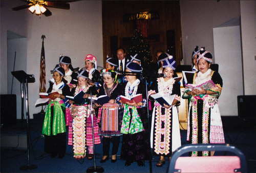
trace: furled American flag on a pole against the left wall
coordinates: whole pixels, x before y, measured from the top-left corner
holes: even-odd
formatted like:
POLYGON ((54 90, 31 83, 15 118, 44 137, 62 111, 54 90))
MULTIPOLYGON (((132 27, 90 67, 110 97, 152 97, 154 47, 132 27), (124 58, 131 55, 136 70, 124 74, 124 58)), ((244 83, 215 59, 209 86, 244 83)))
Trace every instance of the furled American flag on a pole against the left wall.
POLYGON ((42 35, 42 49, 41 49, 41 60, 40 60, 40 93, 46 92, 46 61, 45 61, 45 48, 44 48, 44 38, 46 36, 42 35))

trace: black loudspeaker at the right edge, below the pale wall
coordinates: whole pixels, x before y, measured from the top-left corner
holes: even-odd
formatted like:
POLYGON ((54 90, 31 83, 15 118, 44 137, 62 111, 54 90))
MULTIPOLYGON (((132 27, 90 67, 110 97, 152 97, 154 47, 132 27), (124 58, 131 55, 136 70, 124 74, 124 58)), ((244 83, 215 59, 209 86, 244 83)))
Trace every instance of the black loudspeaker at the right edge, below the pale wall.
POLYGON ((256 119, 256 95, 238 96, 238 117, 256 119))

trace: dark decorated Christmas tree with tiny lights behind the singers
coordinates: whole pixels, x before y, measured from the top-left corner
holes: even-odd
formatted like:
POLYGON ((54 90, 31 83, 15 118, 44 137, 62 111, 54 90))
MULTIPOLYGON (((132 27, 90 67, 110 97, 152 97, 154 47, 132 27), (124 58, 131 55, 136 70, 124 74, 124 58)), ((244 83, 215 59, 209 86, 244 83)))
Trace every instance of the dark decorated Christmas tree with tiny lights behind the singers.
POLYGON ((152 56, 149 45, 144 41, 141 33, 136 29, 134 30, 133 37, 130 41, 130 45, 127 49, 127 54, 130 56, 133 53, 140 54, 141 67, 146 71, 149 71, 150 65, 152 63, 152 56))

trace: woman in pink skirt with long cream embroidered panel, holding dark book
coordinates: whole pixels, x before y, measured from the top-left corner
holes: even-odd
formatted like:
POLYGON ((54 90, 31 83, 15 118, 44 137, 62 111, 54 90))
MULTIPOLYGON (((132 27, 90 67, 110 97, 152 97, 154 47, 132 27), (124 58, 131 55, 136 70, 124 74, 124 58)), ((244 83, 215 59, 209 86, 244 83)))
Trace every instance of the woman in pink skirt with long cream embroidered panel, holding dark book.
MULTIPOLYGON (((93 159, 93 134, 92 134, 92 118, 91 118, 91 105, 89 105, 91 92, 92 95, 97 95, 95 86, 91 86, 87 83, 88 72, 80 70, 78 72, 78 87, 75 89, 74 95, 83 91, 84 102, 76 104, 73 101, 71 106, 71 116, 73 117, 73 152, 76 159, 82 159, 86 157, 86 145, 88 146, 89 155, 88 160, 93 159)), ((98 135, 98 123, 93 109, 93 125, 94 125, 94 142, 100 143, 98 135)))

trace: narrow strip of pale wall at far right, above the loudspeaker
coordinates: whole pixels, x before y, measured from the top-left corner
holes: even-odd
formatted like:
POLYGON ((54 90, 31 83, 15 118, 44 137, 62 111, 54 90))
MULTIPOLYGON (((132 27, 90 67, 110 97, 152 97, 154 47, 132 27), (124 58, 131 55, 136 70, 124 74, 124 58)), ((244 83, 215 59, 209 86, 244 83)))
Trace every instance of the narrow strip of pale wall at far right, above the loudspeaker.
POLYGON ((256 1, 241 1, 245 95, 256 95, 256 1))

